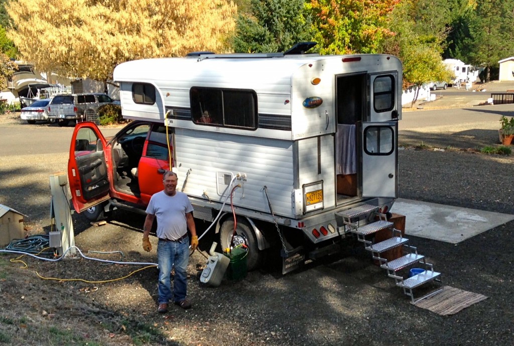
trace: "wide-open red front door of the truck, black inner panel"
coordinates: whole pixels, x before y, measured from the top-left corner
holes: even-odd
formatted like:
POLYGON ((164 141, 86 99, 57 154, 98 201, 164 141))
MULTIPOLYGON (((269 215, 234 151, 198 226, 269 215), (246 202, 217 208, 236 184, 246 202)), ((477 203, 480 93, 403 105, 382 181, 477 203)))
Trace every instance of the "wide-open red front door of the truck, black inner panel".
POLYGON ((107 141, 93 122, 80 122, 71 136, 68 179, 75 210, 82 212, 109 199, 107 141))

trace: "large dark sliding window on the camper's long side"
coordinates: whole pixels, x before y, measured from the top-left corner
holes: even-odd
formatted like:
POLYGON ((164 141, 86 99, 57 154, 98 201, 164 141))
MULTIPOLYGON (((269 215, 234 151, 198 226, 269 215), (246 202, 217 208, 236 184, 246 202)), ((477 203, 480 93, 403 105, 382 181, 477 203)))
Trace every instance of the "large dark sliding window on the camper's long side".
POLYGON ((256 99, 253 90, 193 87, 190 92, 193 122, 255 130, 256 99))

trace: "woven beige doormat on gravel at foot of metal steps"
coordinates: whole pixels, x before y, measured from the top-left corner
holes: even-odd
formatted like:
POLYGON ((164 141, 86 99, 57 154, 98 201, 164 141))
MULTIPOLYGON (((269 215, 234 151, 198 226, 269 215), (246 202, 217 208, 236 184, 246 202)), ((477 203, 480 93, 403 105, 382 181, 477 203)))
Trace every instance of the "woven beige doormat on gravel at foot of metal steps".
POLYGON ((468 306, 476 304, 486 296, 479 293, 467 292, 455 287, 444 286, 443 290, 433 297, 411 303, 441 316, 453 315, 468 306))

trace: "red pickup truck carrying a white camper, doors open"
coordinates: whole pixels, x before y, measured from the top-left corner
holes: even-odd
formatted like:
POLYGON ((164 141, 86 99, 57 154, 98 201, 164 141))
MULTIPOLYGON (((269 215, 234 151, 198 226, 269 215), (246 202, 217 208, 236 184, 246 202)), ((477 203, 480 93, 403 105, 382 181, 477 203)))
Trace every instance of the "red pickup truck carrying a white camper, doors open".
POLYGON ((134 121, 110 140, 77 124, 75 209, 91 220, 144 210, 171 169, 222 248, 248 249, 249 269, 269 248, 284 273, 336 251, 397 197, 401 62, 300 50, 118 65, 122 114, 134 121))

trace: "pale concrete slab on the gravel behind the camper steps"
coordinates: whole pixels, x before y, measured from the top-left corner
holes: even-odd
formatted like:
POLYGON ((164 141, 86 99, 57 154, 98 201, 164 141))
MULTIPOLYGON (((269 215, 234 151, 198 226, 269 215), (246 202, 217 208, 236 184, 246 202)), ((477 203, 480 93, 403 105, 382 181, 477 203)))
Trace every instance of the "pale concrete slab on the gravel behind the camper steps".
POLYGON ((514 220, 514 215, 396 199, 391 212, 405 215, 405 234, 457 244, 514 220))

